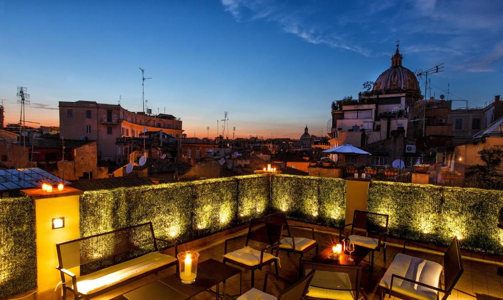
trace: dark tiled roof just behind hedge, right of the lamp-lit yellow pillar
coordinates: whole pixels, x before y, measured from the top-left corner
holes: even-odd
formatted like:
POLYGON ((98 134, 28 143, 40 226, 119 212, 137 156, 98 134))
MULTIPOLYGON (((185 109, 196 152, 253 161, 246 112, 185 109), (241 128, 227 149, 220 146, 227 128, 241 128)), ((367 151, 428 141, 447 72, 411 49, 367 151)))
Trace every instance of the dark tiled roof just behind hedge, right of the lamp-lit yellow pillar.
POLYGON ((121 187, 152 185, 148 178, 127 176, 104 179, 81 179, 72 181, 71 187, 81 191, 109 190, 121 187))

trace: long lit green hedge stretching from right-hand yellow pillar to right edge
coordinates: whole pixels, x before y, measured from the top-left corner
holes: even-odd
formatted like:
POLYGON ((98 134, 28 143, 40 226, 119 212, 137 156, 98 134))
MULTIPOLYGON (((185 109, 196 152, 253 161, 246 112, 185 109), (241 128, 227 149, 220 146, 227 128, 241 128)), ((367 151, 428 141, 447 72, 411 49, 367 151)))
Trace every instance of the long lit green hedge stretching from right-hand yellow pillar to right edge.
POLYGON ((372 182, 369 211, 389 214, 390 235, 448 245, 454 236, 464 249, 503 254, 503 230, 496 227, 503 191, 372 182))

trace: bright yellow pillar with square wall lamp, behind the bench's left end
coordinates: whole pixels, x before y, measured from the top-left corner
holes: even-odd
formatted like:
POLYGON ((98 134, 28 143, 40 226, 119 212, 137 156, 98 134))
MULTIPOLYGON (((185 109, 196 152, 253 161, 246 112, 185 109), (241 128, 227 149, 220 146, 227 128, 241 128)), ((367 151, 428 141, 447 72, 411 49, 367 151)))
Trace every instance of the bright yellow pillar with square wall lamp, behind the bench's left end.
POLYGON ((59 271, 56 270, 56 243, 79 237, 78 195, 37 199, 35 213, 38 299, 53 300, 60 295, 60 290, 54 292, 54 288, 61 281, 59 271), (64 217, 64 228, 52 229, 52 219, 59 217, 64 217))

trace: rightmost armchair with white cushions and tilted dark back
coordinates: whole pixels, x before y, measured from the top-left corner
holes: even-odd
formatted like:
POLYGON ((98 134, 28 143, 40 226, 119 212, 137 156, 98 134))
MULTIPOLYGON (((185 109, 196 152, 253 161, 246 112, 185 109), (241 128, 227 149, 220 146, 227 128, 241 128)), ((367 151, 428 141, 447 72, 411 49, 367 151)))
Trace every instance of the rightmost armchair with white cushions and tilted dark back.
MULTIPOLYGON (((403 247, 405 251, 405 244, 403 247)), ((387 293, 402 299, 447 299, 463 274, 463 263, 459 241, 455 237, 444 253, 444 267, 437 262, 396 254, 379 282, 380 298, 387 293), (440 276, 444 272, 444 288, 440 287, 440 276)))

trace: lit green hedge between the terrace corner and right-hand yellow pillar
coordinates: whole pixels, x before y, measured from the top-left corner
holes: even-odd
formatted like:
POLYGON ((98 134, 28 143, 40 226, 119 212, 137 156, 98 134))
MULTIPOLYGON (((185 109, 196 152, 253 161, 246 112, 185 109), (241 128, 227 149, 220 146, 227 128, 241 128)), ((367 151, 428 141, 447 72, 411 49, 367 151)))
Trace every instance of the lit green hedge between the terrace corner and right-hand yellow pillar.
POLYGON ((346 216, 346 181, 308 176, 274 175, 271 209, 307 223, 338 226, 346 216))

